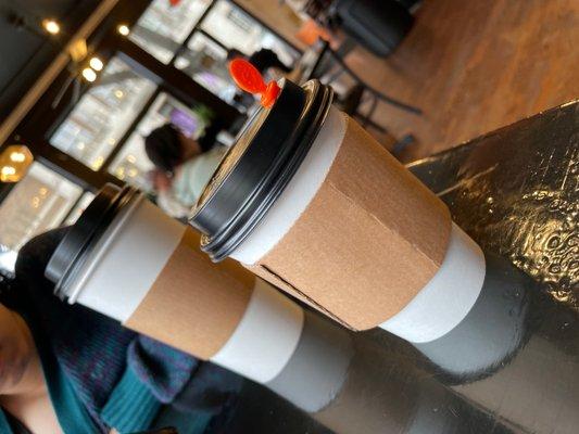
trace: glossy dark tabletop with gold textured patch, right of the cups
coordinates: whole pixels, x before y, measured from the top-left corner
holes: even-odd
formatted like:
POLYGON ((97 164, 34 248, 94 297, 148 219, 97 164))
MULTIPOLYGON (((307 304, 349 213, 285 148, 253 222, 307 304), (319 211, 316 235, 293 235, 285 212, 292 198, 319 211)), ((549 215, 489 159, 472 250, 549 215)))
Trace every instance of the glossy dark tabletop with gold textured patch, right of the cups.
POLYGON ((500 339, 449 343, 445 367, 383 331, 352 334, 356 399, 307 414, 247 382, 229 433, 340 432, 336 418, 356 433, 579 432, 579 103, 408 168, 501 263, 499 275, 524 272, 500 294, 523 308, 508 311, 500 339))

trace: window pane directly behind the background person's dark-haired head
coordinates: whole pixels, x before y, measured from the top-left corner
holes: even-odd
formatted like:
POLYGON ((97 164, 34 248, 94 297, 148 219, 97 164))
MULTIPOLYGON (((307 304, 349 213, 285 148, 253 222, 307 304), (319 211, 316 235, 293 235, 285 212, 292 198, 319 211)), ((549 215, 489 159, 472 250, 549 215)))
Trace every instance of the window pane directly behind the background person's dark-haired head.
POLYGON ((139 123, 109 171, 118 179, 150 191, 148 173, 153 164, 144 153, 144 137, 164 124, 175 125, 185 136, 198 138, 204 131, 212 113, 203 105, 188 108, 167 93, 160 93, 147 115, 139 123))

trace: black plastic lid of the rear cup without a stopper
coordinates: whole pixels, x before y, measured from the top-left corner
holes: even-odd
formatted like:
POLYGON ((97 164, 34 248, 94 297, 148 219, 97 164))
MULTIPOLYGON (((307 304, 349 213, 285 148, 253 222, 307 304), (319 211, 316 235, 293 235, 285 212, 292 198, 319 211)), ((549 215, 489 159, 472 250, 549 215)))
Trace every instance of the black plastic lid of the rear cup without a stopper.
POLYGON ((61 298, 68 295, 68 283, 85 264, 91 247, 99 241, 121 208, 136 194, 138 191, 134 188, 121 189, 109 183, 95 196, 64 235, 45 270, 47 279, 55 283, 56 295, 61 298))

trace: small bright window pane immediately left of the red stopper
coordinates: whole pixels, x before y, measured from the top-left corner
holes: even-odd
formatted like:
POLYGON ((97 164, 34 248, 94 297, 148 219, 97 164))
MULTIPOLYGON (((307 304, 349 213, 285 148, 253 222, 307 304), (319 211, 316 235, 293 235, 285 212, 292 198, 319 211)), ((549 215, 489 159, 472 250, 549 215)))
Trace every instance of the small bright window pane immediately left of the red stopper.
POLYGON ((191 38, 175 66, 222 100, 234 101, 237 87, 229 76, 227 51, 203 34, 198 33, 191 38))

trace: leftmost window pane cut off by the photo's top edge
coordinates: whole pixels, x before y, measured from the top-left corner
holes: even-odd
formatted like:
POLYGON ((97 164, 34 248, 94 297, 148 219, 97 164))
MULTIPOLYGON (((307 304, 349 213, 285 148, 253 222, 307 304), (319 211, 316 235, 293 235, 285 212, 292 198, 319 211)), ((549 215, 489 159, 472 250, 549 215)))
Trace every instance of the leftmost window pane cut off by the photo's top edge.
POLYGON ((130 33, 130 40, 163 63, 169 63, 211 0, 154 0, 130 33))

